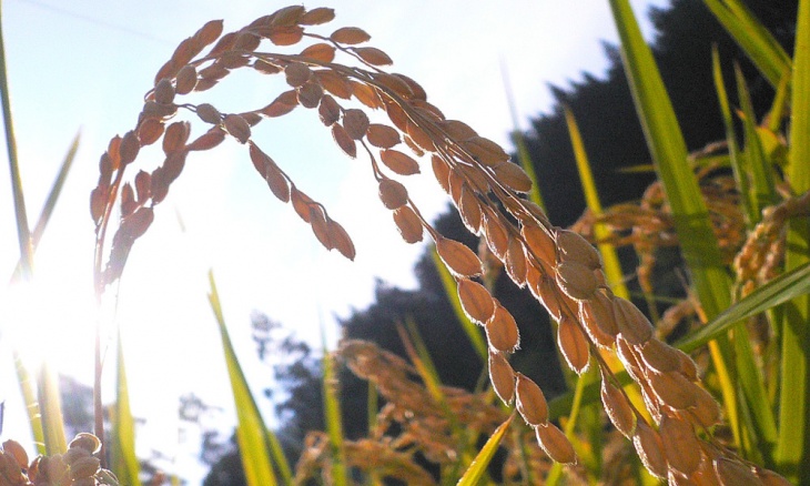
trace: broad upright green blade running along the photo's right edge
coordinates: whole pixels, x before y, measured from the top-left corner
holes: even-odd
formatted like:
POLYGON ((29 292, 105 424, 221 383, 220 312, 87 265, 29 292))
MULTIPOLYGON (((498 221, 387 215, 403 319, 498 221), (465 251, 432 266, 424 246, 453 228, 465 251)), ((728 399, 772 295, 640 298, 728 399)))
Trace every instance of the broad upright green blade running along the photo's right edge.
MULTIPOLYGON (((810 190, 810 0, 799 2, 793 59, 790 165, 791 190, 810 190)), ((810 222, 788 223, 786 271, 810 262, 810 222)), ((782 373, 779 399, 779 442, 776 460, 788 480, 810 484, 810 295, 793 298, 782 321, 782 373)))

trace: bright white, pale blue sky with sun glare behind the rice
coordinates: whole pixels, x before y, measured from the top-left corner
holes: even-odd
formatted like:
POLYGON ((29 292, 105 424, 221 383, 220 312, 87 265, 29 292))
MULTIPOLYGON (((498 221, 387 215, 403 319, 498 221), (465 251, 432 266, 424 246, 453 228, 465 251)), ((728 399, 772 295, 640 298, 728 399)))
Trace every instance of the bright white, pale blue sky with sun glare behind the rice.
MULTIPOLYGON (((666 3, 631 1, 648 38, 648 7, 666 3)), ((363 28, 372 36, 369 45, 394 60, 392 70, 417 80, 447 118, 468 123, 507 151, 513 119, 502 65, 514 92, 517 123, 526 130, 530 118, 549 109, 548 85, 566 87, 585 71, 601 75, 603 41, 617 39, 607 1, 323 4, 334 8, 337 17, 314 31, 363 28)), ((110 138, 133 128, 154 73, 182 39, 207 20, 224 19, 226 31, 236 30, 282 6, 249 0, 2 2, 11 107, 31 225, 71 140, 81 132, 74 168, 37 253, 36 284, 9 288, 0 301, 6 313, 0 316, 0 367, 7 369, 0 371, 0 399, 7 399, 3 439, 24 434, 16 409, 11 343, 27 350, 23 354, 34 362, 48 356, 52 366, 87 383, 92 379, 92 333, 99 312, 92 295, 89 193, 110 138), (20 322, 26 324, 16 324, 20 322)), ((308 8, 320 6, 306 2, 308 8)), ((264 107, 287 89, 271 77, 233 78, 194 100, 240 112, 264 107)), ((203 130, 193 123, 192 136, 203 130)), ((266 313, 317 347, 322 327, 334 343, 336 320, 373 302, 377 280, 405 288, 415 285, 412 270, 424 245, 401 240, 391 212, 378 202, 367 161, 343 155, 313 111, 297 109, 263 121, 254 134, 298 188, 344 225, 357 256, 348 262, 326 252, 292 207, 273 198, 245 146, 226 141, 191 156, 158 206, 154 224, 135 243, 117 288, 118 301, 111 288, 101 312, 109 320, 114 307, 114 323, 121 326, 133 412, 151 424, 142 439, 149 436, 164 445, 173 441, 161 439, 159 431, 176 431, 178 396, 189 392, 222 406, 226 427, 233 423, 222 350, 206 301, 209 270, 216 276, 231 337, 256 393, 272 386, 272 377, 250 338, 251 312, 266 313)), ((0 162, 8 165, 4 152, 0 162)), ((158 154, 144 152, 136 163, 159 162, 158 154)), ((417 206, 435 215, 448 200, 432 180, 429 165, 423 172, 402 182, 417 206)), ((0 272, 10 275, 19 250, 6 170, 0 171, 0 272)), ((112 369, 105 374, 108 401, 113 397, 112 369)))

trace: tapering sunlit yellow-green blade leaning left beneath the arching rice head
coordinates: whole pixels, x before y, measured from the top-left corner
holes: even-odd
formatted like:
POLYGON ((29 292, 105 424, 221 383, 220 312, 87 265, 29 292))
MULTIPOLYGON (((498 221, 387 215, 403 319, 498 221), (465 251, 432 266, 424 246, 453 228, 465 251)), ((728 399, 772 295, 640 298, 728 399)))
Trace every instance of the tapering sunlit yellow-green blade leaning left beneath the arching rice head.
POLYGON ((227 334, 213 271, 209 271, 209 283, 211 285, 209 302, 220 328, 222 348, 225 353, 225 363, 227 365, 227 375, 231 378, 231 391, 236 406, 236 442, 239 444, 240 455, 242 456, 242 467, 244 468, 245 478, 250 486, 275 486, 276 479, 265 439, 264 421, 259 413, 259 407, 253 399, 253 395, 251 395, 247 381, 245 379, 244 373, 242 373, 242 367, 233 350, 231 337, 227 334))

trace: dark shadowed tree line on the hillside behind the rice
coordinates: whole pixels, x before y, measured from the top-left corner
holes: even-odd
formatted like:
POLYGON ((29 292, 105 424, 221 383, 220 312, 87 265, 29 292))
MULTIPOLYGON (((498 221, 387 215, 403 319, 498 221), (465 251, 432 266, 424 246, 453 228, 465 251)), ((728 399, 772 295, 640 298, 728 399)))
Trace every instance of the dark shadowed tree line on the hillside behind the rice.
MULTIPOLYGON (((773 32, 789 52, 792 50, 798 1, 749 0, 755 14, 773 32)), ((726 80, 732 80, 732 62, 738 61, 748 80, 755 110, 765 113, 773 91, 757 75, 739 48, 699 0, 674 0, 667 9, 651 11, 656 28, 654 51, 689 150, 697 150, 725 136, 711 74, 711 48, 717 45, 726 80)), ((563 107, 577 119, 604 204, 638 199, 652 181, 650 173, 622 173, 621 168, 650 163, 632 98, 621 67, 618 48, 605 44, 609 69, 604 77, 583 74, 569 87, 549 87, 555 105, 531 120, 524 135, 537 172, 540 192, 551 221, 571 224, 585 210, 579 178, 566 128, 563 107)), ((730 84, 730 83, 729 83, 730 84)), ((543 89, 538 87, 538 89, 543 89)), ((736 90, 728 85, 731 100, 736 90)), ((733 101, 732 101, 733 102, 733 101)), ((477 240, 448 210, 435 223, 449 237, 477 247, 477 240)), ((341 323, 344 335, 377 343, 405 355, 395 325, 413 320, 435 361, 443 382, 472 389, 484 363, 473 351, 445 296, 429 254, 415 266, 418 287, 414 291, 378 283, 375 303, 341 323)), ((529 375, 551 397, 565 389, 548 317, 537 302, 517 290, 503 275, 495 295, 516 317, 523 351, 513 358, 515 369, 529 375)), ((287 323, 292 325, 293 323, 287 323)), ((292 460, 308 429, 322 429, 320 369, 307 353, 302 363, 287 369, 290 399, 277 406, 288 421, 280 433, 292 460), (297 366, 297 368, 295 367, 297 366)), ((366 434, 366 384, 342 374, 344 432, 350 438, 366 434)), ((209 486, 244 484, 237 452, 214 465, 209 486), (240 469, 240 470, 237 470, 240 469)))

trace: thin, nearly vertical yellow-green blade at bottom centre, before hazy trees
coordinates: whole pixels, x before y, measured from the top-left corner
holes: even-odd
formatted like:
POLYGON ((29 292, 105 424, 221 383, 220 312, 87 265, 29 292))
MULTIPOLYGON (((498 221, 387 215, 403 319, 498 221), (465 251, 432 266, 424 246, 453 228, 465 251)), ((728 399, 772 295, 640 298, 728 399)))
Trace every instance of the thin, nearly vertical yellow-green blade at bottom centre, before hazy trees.
POLYGON ((336 486, 348 484, 348 472, 346 470, 346 455, 343 448, 343 422, 341 414, 341 402, 337 397, 337 375, 335 373, 334 360, 326 347, 326 332, 321 327, 321 341, 323 343, 323 399, 324 419, 326 421, 326 433, 330 436, 332 448, 332 482, 336 486))

